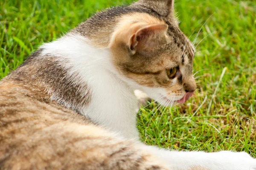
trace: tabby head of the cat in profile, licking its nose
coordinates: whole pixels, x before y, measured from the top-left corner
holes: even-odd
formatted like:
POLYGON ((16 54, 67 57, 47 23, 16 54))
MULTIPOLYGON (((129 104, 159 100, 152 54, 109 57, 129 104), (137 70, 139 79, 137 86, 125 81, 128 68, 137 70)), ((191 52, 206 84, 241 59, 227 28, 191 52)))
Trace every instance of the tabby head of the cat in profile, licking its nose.
POLYGON ((183 103, 196 89, 194 47, 180 31, 174 0, 140 0, 152 14, 131 12, 119 19, 110 48, 113 63, 130 85, 163 105, 183 103))

